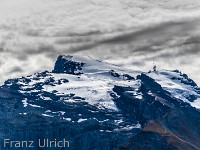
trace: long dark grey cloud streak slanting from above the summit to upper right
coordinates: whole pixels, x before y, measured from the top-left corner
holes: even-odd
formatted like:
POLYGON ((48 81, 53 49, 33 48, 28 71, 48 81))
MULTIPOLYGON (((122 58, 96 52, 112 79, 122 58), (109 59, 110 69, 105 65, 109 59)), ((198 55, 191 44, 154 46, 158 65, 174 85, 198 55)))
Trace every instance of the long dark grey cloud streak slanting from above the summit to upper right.
MULTIPOLYGON (((172 40, 174 37, 184 37, 190 31, 194 31, 199 21, 188 20, 182 22, 168 22, 162 23, 157 26, 147 27, 146 29, 135 31, 122 32, 118 36, 111 38, 102 38, 98 41, 92 41, 91 43, 82 44, 81 46, 74 46, 70 51, 78 52, 95 48, 99 45, 127 45, 132 49, 128 51, 155 51, 151 47, 164 45, 167 41, 172 40)), ((90 41, 91 39, 87 39, 90 41)), ((86 41, 87 41, 86 40, 86 41)), ((83 39, 78 39, 78 42, 83 42, 83 39)))

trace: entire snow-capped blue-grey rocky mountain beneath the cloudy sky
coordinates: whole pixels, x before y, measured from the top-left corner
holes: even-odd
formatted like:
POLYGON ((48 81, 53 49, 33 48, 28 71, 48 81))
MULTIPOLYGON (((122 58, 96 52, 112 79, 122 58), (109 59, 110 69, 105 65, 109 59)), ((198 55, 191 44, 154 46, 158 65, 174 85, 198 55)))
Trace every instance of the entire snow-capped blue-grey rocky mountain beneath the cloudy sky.
POLYGON ((56 149, 39 147, 39 139, 66 139, 69 147, 59 149, 70 150, 197 150, 199 93, 178 71, 141 73, 59 56, 52 72, 0 87, 0 137, 34 141, 33 150, 56 149))

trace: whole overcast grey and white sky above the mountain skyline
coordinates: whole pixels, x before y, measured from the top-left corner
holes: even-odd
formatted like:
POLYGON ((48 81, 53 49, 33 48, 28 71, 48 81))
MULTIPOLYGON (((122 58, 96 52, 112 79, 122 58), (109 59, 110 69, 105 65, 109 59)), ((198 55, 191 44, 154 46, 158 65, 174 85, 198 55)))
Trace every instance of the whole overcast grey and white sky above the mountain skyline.
POLYGON ((199 0, 1 0, 0 83, 80 54, 200 85, 199 0))

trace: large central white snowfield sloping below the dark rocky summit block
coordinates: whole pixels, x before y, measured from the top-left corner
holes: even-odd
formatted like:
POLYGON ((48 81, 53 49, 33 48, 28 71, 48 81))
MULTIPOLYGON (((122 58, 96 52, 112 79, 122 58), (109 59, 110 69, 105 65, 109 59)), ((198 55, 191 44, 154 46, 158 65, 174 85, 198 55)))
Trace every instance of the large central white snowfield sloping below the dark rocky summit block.
MULTIPOLYGON (((81 97, 90 105, 97 106, 99 109, 110 109, 114 111, 118 111, 118 108, 115 106, 115 103, 112 101, 111 93, 113 93, 113 88, 115 85, 117 86, 131 86, 135 89, 140 87, 140 81, 137 80, 127 80, 124 72, 130 74, 132 77, 136 78, 136 76, 141 73, 140 71, 131 71, 131 70, 123 70, 115 65, 111 65, 109 63, 101 62, 99 60, 95 60, 89 57, 78 57, 75 56, 73 58, 63 56, 67 61, 75 61, 75 62, 84 62, 85 65, 81 72, 83 74, 80 75, 71 75, 66 73, 48 73, 46 77, 39 78, 34 80, 37 76, 32 75, 28 76, 27 79, 30 79, 31 82, 29 84, 24 84, 23 81, 19 81, 18 84, 22 84, 21 92, 24 92, 28 88, 34 87, 35 84, 43 83, 48 80, 55 80, 54 83, 58 83, 59 80, 67 79, 68 82, 62 84, 53 84, 53 85, 44 85, 43 89, 39 92, 53 92, 58 91, 58 95, 70 95, 75 94, 76 97, 81 97), (114 69, 115 73, 119 74, 119 77, 114 77, 111 75, 111 70, 114 69)), ((33 92, 33 91, 28 91, 33 92)), ((37 91, 38 92, 38 91, 37 91)), ((132 91, 133 92, 133 91, 132 91)), ((135 92, 136 93, 136 92, 135 92)), ((140 95, 135 95, 139 97, 140 95)), ((41 97, 44 100, 51 100, 48 97, 41 97)), ((62 99, 66 102, 76 103, 78 99, 62 99)), ((24 106, 27 106, 27 101, 23 100, 24 106)), ((35 106, 37 107, 37 106, 35 106)))

